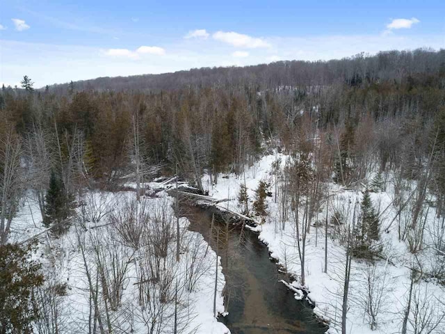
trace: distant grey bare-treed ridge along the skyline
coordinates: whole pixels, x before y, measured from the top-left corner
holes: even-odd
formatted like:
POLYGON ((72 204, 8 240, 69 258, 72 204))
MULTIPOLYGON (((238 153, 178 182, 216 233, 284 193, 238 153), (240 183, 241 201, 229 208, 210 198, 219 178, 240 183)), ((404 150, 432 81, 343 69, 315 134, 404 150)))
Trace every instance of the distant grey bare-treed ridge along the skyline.
MULTIPOLYGON (((246 67, 203 67, 165 74, 131 77, 102 77, 77 81, 77 90, 131 90, 159 93, 191 87, 229 87, 256 84, 259 89, 285 86, 364 86, 382 80, 401 79, 413 74, 435 74, 445 70, 445 50, 382 51, 375 56, 357 54, 332 61, 277 61, 246 67)), ((68 80, 68 79, 67 79, 68 80)), ((72 87, 71 87, 72 88, 72 87)), ((49 87, 52 93, 67 94, 70 84, 49 87)))

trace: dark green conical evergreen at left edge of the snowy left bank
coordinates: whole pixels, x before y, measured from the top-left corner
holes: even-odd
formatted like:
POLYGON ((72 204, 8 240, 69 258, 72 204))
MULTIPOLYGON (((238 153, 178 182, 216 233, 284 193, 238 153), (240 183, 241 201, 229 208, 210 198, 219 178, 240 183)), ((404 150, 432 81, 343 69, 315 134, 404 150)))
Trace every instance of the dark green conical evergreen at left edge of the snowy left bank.
POLYGON ((45 197, 44 225, 49 228, 51 224, 61 224, 52 231, 61 234, 70 227, 68 223, 63 223, 72 214, 73 198, 65 191, 65 186, 59 175, 54 170, 51 171, 49 179, 49 189, 45 197))

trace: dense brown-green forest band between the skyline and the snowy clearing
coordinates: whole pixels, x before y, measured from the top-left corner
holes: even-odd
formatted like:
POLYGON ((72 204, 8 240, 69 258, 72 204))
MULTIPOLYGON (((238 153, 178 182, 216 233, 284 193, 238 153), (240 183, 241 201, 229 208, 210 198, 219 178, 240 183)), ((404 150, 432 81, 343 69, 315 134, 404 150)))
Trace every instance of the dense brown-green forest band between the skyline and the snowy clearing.
MULTIPOLYGON (((42 189, 51 169, 64 170, 65 182, 114 186, 134 169, 135 133, 145 169, 178 164, 195 182, 204 169, 240 173, 270 138, 298 152, 302 141, 318 136, 331 155, 327 169, 339 169, 337 150, 348 165, 343 183, 364 177, 374 158, 380 170, 403 168, 415 178, 425 159, 433 153, 440 160, 444 150, 444 50, 129 77, 131 90, 120 78, 107 79, 118 90, 99 89, 101 79, 42 90, 26 80, 24 89, 1 90, 1 133, 8 138, 3 143, 20 145, 22 166, 34 171, 35 164, 48 164, 36 184, 42 189), (147 90, 152 83, 161 88, 147 90), (61 87, 67 89, 59 93, 61 87), (47 159, 33 161, 42 154, 47 159), (72 170, 74 160, 80 170, 72 170)), ((445 186, 437 168, 439 162, 440 194, 445 186)))

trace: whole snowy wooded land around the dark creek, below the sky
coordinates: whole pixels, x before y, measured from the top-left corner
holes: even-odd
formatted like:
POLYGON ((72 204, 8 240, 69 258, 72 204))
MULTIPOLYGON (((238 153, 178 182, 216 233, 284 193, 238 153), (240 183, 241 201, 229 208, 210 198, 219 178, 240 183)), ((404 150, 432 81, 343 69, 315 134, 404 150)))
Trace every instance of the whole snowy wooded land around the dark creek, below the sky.
POLYGON ((209 317, 227 311, 178 199, 147 199, 175 175, 258 223, 329 333, 445 331, 444 49, 46 88, 25 75, 1 88, 0 118, 0 333, 193 333, 204 283, 209 317), (338 305, 318 306, 315 271, 338 305))

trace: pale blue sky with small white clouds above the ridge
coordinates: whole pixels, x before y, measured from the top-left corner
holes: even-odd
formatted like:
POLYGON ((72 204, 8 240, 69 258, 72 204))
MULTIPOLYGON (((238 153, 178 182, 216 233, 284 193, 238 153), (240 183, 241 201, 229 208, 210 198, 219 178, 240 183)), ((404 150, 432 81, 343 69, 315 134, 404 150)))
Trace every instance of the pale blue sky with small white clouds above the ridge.
POLYGON ((0 0, 0 84, 440 49, 444 3, 0 0))

